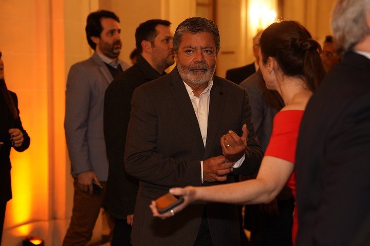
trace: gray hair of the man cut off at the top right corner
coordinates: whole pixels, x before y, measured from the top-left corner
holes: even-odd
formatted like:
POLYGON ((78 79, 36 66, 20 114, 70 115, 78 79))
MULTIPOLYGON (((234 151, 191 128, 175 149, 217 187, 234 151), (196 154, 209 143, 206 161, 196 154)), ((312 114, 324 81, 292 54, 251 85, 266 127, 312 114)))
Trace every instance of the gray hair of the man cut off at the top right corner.
POLYGON ((366 15, 370 0, 338 0, 331 14, 331 28, 340 51, 348 51, 370 34, 366 15))

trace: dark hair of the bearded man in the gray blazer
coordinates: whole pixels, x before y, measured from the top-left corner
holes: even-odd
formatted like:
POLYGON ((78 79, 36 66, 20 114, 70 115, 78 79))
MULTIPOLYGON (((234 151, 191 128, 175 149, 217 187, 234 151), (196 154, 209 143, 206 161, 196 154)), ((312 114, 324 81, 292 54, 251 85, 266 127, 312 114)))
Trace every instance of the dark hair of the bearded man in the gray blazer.
POLYGON ((96 12, 91 12, 87 16, 86 20, 86 38, 89 46, 91 49, 95 50, 96 43, 91 40, 91 37, 100 37, 101 32, 103 31, 103 27, 101 25, 101 18, 112 18, 113 20, 119 23, 118 16, 108 10, 99 10, 96 12))

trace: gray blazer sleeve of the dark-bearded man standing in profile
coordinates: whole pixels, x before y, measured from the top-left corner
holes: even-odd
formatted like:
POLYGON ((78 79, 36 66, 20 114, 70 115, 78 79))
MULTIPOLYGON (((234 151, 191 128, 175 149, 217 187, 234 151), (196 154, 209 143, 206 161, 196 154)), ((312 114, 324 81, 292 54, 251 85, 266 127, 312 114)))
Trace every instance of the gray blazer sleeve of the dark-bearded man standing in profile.
POLYGON ((87 144, 87 123, 91 98, 85 71, 73 65, 68 73, 64 129, 72 175, 91 171, 87 144))

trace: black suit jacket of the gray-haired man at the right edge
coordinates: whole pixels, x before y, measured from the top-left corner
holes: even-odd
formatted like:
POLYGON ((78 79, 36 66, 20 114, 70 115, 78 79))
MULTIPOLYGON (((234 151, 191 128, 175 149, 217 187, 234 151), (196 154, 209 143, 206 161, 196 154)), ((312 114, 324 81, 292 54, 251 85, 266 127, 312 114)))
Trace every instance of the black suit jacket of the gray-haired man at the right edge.
POLYGON ((370 213, 370 60, 349 52, 302 118, 297 246, 349 245, 370 213))

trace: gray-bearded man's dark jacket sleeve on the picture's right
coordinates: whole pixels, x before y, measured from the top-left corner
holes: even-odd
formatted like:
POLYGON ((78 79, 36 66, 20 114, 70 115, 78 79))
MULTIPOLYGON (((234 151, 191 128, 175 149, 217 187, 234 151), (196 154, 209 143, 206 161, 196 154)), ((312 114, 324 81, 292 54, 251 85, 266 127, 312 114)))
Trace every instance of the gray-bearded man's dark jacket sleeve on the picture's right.
POLYGON ((244 90, 244 103, 243 103, 243 117, 242 124, 247 124, 248 128, 248 140, 247 140, 247 149, 245 152, 245 160, 243 164, 234 169, 236 174, 243 175, 255 175, 260 168, 263 150, 258 144, 253 123, 252 123, 252 110, 249 104, 248 93, 244 90))

